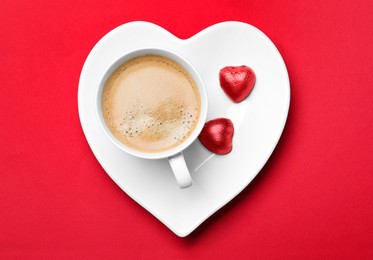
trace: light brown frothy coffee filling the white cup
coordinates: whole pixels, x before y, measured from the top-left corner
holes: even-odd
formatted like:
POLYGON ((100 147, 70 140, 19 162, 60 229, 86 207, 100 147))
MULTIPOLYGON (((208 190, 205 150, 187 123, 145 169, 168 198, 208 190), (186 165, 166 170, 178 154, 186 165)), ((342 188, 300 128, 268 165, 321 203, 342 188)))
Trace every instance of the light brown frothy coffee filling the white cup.
POLYGON ((177 62, 159 55, 131 59, 106 81, 102 112, 112 134, 142 152, 162 152, 187 139, 201 110, 198 88, 177 62))

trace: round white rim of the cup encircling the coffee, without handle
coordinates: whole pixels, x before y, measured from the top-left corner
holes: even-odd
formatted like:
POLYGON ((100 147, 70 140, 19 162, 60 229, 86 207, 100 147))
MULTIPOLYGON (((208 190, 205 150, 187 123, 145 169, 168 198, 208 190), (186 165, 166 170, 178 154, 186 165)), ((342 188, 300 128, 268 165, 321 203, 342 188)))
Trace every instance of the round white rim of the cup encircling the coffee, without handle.
POLYGON ((104 72, 104 75, 102 76, 101 81, 99 82, 99 85, 97 87, 97 92, 96 92, 96 115, 98 118, 98 122, 101 126, 101 129, 103 130, 105 135, 120 150, 128 154, 131 154, 135 157, 144 158, 144 159, 169 158, 185 150, 189 145, 191 145, 198 138, 198 135, 202 131, 202 128, 206 122, 207 93, 206 93, 204 83, 200 75, 196 71, 196 69, 185 58, 183 58, 179 54, 176 54, 175 52, 172 52, 170 50, 165 50, 165 49, 160 49, 160 48, 135 49, 135 50, 126 52, 124 55, 122 55, 120 58, 114 61, 104 72), (124 62, 132 58, 147 55, 147 54, 156 54, 156 55, 165 56, 179 63, 191 75, 192 79, 196 83, 196 86, 200 94, 200 100, 201 100, 200 117, 199 117, 197 126, 194 128, 192 134, 186 140, 180 143, 178 146, 171 148, 169 150, 166 150, 166 151, 161 151, 161 152, 142 152, 142 151, 138 151, 138 150, 132 149, 131 147, 124 145, 109 130, 104 120, 103 114, 102 114, 102 105, 101 105, 102 104, 102 101, 101 101, 102 92, 103 92, 103 88, 109 76, 115 71, 115 69, 117 69, 124 62))

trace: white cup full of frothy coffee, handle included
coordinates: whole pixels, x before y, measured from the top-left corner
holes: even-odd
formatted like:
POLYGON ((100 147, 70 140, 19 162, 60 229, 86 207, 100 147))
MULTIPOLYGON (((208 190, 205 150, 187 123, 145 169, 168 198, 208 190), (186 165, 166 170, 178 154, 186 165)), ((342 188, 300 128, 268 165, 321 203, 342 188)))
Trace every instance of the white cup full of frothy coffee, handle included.
POLYGON ((170 50, 132 50, 108 65, 96 90, 96 114, 108 139, 132 156, 167 159, 179 187, 191 186, 183 151, 207 117, 196 69, 170 50))

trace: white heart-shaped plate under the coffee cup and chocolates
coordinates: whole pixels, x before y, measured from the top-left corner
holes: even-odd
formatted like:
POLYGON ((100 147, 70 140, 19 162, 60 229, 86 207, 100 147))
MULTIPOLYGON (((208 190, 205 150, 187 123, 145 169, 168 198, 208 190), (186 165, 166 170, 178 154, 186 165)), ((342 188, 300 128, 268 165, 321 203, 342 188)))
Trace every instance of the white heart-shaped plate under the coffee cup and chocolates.
POLYGON ((274 44, 255 27, 223 22, 182 40, 148 22, 131 22, 105 35, 83 66, 78 90, 79 116, 88 143, 107 174, 132 199, 178 236, 184 237, 239 194, 262 169, 284 129, 290 85, 274 44), (193 186, 180 189, 167 160, 134 158, 105 136, 95 116, 95 92, 105 69, 129 50, 166 48, 200 72, 208 94, 207 120, 230 118, 233 151, 225 156, 195 141, 185 152, 193 186), (247 65, 256 73, 249 97, 233 103, 219 85, 219 70, 247 65))

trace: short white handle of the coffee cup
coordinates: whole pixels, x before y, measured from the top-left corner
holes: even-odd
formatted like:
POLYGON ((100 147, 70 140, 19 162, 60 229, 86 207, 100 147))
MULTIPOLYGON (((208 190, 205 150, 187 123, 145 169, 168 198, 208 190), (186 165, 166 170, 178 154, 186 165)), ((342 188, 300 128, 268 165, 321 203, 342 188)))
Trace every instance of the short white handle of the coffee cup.
POLYGON ((188 167, 185 163, 183 153, 178 153, 174 156, 168 157, 168 162, 174 172, 177 184, 182 189, 192 186, 192 177, 190 176, 188 167))

